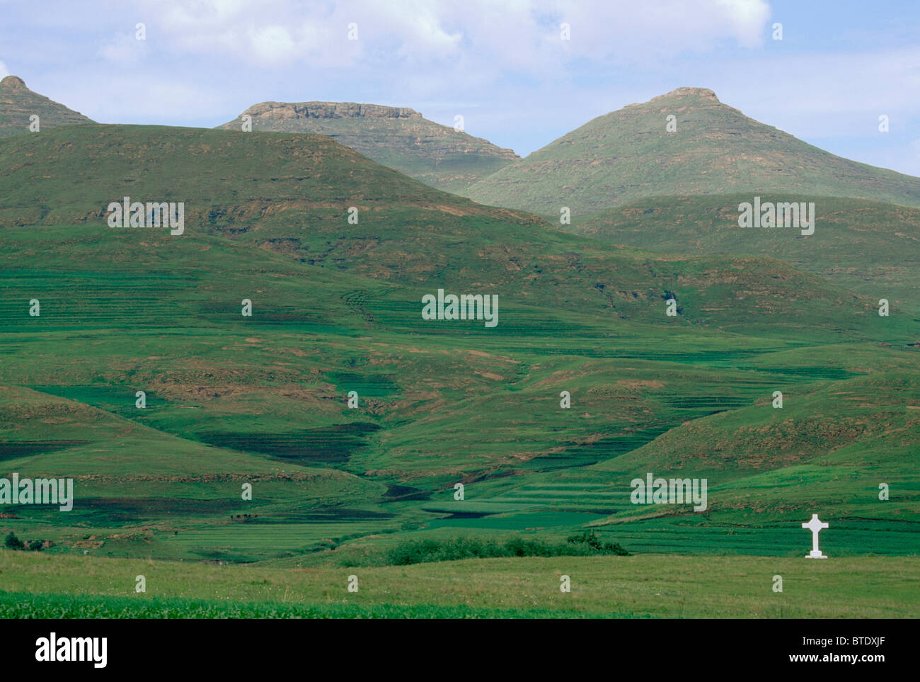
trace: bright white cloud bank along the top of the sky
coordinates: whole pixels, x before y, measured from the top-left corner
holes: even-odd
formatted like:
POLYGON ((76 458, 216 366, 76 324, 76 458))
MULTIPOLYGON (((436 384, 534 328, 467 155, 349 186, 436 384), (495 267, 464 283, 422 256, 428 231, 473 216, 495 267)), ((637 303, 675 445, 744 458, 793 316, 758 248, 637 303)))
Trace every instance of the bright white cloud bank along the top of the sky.
MULTIPOLYGON (((304 5, 293 0, 140 0, 149 30, 179 51, 219 53, 273 67, 309 62, 364 66, 453 64, 491 73, 555 71, 561 61, 641 62, 681 52, 706 52, 730 41, 761 44, 770 7, 765 0, 355 0, 304 5), (559 24, 571 40, 559 38, 559 24), (358 24, 361 51, 347 49, 358 24)), ((354 42, 354 41, 351 41, 354 42)), ((353 46, 352 46, 353 47, 353 46)), ((443 70, 442 70, 443 75, 443 70)))

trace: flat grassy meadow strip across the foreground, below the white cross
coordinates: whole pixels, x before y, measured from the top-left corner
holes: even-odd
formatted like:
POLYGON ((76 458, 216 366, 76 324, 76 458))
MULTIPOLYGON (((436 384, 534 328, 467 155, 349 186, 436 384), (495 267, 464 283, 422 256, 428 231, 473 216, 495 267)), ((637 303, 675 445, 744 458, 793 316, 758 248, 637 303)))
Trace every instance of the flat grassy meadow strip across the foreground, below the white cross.
POLYGON ((915 557, 528 557, 278 569, 0 551, 0 589, 6 618, 920 617, 915 557), (139 575, 145 594, 134 593, 139 575), (347 590, 350 575, 358 593, 347 590), (559 591, 562 575, 569 594, 559 591), (782 593, 773 592, 775 575, 782 593))

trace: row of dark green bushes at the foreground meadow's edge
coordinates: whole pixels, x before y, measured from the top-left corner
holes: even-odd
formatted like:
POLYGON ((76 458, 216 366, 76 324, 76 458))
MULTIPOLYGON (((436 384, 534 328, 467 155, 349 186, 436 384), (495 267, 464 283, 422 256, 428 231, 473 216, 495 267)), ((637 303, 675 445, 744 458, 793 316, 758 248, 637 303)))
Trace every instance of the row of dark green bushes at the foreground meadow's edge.
POLYGON ((478 538, 425 539, 403 542, 390 549, 387 563, 407 566, 429 561, 492 559, 496 557, 590 557, 629 552, 618 542, 601 542, 594 531, 570 536, 565 543, 549 543, 536 538, 514 537, 503 542, 478 538))

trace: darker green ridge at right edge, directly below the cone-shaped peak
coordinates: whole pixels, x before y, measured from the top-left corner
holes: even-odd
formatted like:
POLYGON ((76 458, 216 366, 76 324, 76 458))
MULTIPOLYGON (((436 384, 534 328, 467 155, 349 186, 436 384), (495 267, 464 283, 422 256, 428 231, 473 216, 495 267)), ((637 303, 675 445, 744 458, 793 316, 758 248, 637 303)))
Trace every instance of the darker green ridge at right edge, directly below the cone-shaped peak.
MULTIPOLYGON (((815 230, 742 228, 744 194, 650 197, 575 216, 565 229, 635 249, 696 255, 732 254, 787 261, 893 306, 920 310, 920 209, 862 199, 811 197, 815 230)), ((799 196, 775 194, 774 202, 799 196)))

